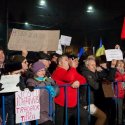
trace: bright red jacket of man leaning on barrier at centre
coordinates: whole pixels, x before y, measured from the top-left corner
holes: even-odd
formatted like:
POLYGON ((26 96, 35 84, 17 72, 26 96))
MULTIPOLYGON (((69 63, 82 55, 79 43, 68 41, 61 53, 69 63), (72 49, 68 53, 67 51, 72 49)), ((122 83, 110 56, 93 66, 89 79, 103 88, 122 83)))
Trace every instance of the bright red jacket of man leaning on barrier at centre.
MULTIPOLYGON (((86 79, 81 76, 75 68, 65 70, 64 68, 57 67, 52 74, 52 78, 58 85, 69 84, 71 85, 74 81, 79 81, 81 84, 86 83, 86 79)), ((67 100, 68 107, 75 107, 77 105, 77 89, 68 87, 67 88, 67 100)), ((55 103, 64 106, 65 105, 65 91, 64 87, 60 88, 60 94, 55 98, 55 103)))

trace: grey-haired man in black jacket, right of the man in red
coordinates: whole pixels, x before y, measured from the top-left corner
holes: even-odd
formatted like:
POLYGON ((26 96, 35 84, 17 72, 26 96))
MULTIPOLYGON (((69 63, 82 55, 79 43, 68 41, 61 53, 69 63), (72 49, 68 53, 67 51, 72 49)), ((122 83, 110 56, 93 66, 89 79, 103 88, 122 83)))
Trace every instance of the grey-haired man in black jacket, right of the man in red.
MULTIPOLYGON (((98 75, 96 72, 96 62, 94 58, 89 58, 85 61, 85 67, 83 67, 82 75, 87 79, 87 83, 90 86, 90 114, 95 116, 97 118, 95 125, 104 125, 106 122, 106 114, 99 109, 95 105, 95 96, 96 92, 99 89, 99 82, 98 82, 98 75)), ((87 91, 87 89, 85 89, 87 91)), ((84 92, 85 92, 84 91, 84 92)), ((80 102, 82 103, 83 107, 85 109, 88 109, 88 103, 87 103, 87 93, 82 93, 83 91, 80 91, 80 95, 84 95, 80 98, 80 102)))

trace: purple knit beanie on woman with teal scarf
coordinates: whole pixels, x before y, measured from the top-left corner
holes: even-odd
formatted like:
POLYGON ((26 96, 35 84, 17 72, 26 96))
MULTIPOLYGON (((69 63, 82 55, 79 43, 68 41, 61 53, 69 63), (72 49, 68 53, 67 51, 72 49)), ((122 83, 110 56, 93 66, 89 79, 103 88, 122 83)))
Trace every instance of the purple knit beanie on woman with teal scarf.
POLYGON ((45 65, 42 62, 40 62, 40 61, 37 61, 37 62, 35 62, 32 65, 32 71, 33 71, 33 73, 37 73, 41 69, 45 69, 45 65))

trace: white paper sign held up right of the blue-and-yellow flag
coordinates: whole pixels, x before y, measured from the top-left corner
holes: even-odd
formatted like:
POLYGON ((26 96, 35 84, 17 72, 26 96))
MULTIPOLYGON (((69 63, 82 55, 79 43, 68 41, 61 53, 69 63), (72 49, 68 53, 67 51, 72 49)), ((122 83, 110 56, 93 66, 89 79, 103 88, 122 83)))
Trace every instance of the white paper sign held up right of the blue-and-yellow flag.
POLYGON ((107 61, 112 61, 113 59, 123 60, 123 53, 120 49, 108 49, 105 50, 105 54, 107 61))

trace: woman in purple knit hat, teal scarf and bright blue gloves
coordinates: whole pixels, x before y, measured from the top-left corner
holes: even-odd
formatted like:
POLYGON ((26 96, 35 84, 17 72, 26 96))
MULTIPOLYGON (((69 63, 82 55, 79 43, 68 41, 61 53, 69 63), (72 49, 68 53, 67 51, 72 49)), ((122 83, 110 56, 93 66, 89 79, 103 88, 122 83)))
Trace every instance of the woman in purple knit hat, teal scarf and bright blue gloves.
MULTIPOLYGON (((33 91, 34 87, 44 87, 40 90, 40 119, 38 120, 38 123, 39 125, 54 125, 52 117, 49 116, 48 97, 49 93, 52 97, 55 97, 58 94, 58 87, 51 78, 46 77, 46 67, 42 62, 35 62, 31 69, 34 76, 27 80, 29 90, 33 91)), ((50 103, 54 104, 53 100, 50 103)))

